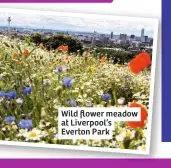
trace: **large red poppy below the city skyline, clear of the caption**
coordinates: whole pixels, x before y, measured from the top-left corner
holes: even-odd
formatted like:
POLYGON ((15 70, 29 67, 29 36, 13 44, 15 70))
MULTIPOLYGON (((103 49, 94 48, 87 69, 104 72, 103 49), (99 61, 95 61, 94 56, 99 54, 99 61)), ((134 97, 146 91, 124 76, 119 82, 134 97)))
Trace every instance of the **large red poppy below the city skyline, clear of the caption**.
POLYGON ((150 65, 151 57, 147 52, 140 53, 135 58, 133 58, 128 64, 130 71, 135 74, 140 73, 150 65))

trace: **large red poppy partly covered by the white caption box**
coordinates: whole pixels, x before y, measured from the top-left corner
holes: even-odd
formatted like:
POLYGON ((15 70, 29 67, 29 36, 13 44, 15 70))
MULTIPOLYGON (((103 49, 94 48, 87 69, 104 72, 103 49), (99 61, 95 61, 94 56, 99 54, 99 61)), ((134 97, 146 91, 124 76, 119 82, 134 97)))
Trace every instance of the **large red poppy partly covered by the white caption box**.
POLYGON ((145 107, 143 107, 141 104, 137 104, 135 102, 131 103, 129 107, 140 107, 141 108, 141 121, 130 121, 127 122, 127 125, 130 128, 144 128, 145 126, 145 121, 147 120, 148 117, 148 112, 145 107))

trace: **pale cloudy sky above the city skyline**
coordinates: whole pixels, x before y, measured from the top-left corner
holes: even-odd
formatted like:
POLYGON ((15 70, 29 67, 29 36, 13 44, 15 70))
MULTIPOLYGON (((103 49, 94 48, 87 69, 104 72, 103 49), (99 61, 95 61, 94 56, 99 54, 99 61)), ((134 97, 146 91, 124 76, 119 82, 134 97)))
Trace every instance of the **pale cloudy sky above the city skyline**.
POLYGON ((134 34, 141 35, 141 29, 145 29, 145 35, 153 37, 154 25, 150 22, 134 20, 119 20, 100 17, 88 17, 86 15, 72 15, 72 13, 46 14, 32 11, 2 11, 0 12, 0 26, 7 26, 8 17, 11 17, 12 27, 54 29, 63 31, 85 31, 99 33, 111 33, 115 35, 134 34))

